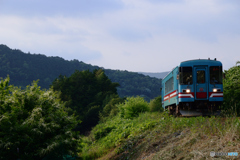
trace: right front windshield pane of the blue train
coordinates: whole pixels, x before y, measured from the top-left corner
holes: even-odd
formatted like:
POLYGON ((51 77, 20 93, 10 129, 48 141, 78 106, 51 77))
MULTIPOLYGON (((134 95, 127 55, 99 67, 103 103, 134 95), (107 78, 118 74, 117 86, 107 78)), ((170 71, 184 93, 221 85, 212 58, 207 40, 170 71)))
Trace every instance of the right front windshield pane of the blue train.
POLYGON ((210 83, 222 84, 222 66, 210 67, 210 83))

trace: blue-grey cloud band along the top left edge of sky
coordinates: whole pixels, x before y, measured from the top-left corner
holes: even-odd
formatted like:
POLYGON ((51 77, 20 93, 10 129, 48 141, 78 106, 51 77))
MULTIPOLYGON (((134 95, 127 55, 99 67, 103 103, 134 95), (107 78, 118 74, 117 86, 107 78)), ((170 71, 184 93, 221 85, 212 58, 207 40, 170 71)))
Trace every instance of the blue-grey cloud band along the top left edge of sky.
POLYGON ((21 16, 91 17, 122 8, 120 0, 2 0, 2 13, 21 16))

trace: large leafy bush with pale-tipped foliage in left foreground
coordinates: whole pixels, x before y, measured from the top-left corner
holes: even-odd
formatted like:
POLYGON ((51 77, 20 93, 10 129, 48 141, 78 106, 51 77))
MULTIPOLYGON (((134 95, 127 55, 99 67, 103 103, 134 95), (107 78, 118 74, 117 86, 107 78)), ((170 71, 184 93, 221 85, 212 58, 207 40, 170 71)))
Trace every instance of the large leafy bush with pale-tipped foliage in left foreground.
POLYGON ((77 125, 58 94, 33 82, 25 90, 0 82, 0 159, 57 159, 78 151, 77 125))

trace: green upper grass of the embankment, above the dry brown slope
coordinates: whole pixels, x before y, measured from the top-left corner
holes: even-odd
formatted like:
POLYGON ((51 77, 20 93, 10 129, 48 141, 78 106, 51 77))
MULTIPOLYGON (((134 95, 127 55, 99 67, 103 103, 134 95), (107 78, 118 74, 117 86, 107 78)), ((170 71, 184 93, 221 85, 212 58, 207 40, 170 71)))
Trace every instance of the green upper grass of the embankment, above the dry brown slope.
POLYGON ((83 138, 83 149, 79 156, 83 159, 96 159, 112 152, 111 156, 125 153, 127 157, 122 159, 132 159, 136 152, 142 152, 136 149, 137 145, 143 143, 142 147, 147 149, 151 147, 147 145, 156 144, 159 139, 170 135, 178 135, 183 130, 205 137, 222 138, 232 135, 239 139, 240 120, 237 117, 174 118, 166 112, 146 112, 133 119, 116 116, 98 124, 88 137, 83 138))

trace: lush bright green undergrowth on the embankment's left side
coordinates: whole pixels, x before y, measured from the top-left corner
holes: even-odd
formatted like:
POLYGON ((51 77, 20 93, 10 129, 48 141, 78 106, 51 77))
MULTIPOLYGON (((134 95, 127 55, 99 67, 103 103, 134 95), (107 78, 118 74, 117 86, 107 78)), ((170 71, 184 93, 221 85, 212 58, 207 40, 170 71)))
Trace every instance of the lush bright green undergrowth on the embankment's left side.
MULTIPOLYGON (((83 150, 80 157, 95 159, 106 154, 112 148, 119 147, 127 139, 136 138, 148 129, 158 124, 159 113, 142 113, 133 119, 115 116, 105 123, 98 124, 91 131, 90 136, 82 141, 83 150)), ((116 154, 121 152, 121 147, 116 148, 116 154)))

